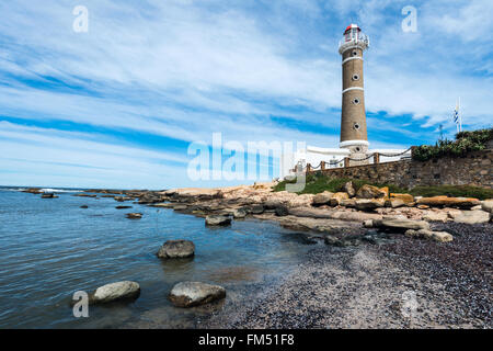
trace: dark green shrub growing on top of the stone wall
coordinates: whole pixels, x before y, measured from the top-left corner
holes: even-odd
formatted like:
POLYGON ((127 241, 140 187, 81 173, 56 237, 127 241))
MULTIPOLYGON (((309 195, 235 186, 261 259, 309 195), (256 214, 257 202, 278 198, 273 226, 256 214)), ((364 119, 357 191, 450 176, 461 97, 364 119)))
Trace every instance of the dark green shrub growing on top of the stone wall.
POLYGON ((444 156, 463 157, 471 151, 484 150, 491 139, 493 139, 493 128, 461 132, 456 135, 456 140, 438 140, 435 145, 422 145, 414 148, 413 160, 427 161, 444 156))

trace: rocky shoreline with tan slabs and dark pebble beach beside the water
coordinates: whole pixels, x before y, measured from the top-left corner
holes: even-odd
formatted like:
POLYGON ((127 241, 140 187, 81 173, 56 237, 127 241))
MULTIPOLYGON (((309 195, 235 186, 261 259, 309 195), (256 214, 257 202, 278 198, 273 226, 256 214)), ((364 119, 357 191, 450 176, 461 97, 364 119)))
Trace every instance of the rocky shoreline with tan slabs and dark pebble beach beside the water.
MULTIPOLYGON (((274 220, 319 244, 268 293, 200 328, 492 328, 493 201, 348 183, 340 193, 222 189, 91 191, 230 225, 274 220)), ((34 192, 36 193, 36 192, 34 192)), ((98 195, 96 195, 98 196, 98 195)), ((262 286, 265 288, 265 286, 262 286)))

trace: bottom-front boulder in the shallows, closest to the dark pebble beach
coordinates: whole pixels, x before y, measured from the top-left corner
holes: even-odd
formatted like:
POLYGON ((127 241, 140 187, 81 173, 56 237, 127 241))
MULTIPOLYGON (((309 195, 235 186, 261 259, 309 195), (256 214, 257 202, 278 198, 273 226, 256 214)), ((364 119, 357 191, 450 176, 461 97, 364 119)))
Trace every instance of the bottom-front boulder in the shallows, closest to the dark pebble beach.
POLYGON ((226 290, 219 285, 199 282, 177 283, 168 296, 176 307, 193 307, 226 297, 226 290))

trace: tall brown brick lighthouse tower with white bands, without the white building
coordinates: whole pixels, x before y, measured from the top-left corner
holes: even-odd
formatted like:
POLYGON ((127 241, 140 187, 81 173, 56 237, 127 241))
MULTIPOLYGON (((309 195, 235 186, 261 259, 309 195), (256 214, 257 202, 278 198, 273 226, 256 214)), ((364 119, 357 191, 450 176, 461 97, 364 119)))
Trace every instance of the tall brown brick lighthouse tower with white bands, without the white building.
MULTIPOLYGON (((342 56, 343 90, 341 115, 341 148, 349 149, 351 158, 363 159, 368 151, 366 133, 365 90, 363 83, 363 52, 369 46, 369 38, 356 24, 344 32, 339 45, 342 56)), ((351 161, 352 166, 368 161, 351 161)))

